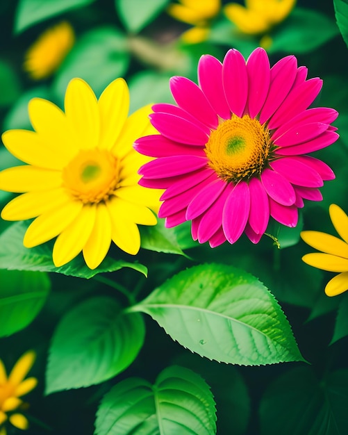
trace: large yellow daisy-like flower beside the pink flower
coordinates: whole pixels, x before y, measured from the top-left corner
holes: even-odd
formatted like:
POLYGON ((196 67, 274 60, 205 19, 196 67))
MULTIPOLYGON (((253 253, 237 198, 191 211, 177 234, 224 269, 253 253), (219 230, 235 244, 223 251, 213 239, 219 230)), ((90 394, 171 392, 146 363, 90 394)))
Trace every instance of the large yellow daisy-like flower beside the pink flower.
POLYGON ((28 163, 0 172, 0 189, 23 193, 1 213, 5 220, 36 217, 24 236, 34 247, 56 238, 53 263, 64 265, 81 250, 88 267, 105 258, 111 240, 137 254, 137 224, 155 225, 161 191, 138 185, 138 168, 151 160, 133 149, 140 136, 157 133, 150 106, 128 117, 129 90, 116 79, 99 100, 82 79, 70 81, 65 113, 50 101, 28 105, 35 131, 10 130, 3 143, 28 163))

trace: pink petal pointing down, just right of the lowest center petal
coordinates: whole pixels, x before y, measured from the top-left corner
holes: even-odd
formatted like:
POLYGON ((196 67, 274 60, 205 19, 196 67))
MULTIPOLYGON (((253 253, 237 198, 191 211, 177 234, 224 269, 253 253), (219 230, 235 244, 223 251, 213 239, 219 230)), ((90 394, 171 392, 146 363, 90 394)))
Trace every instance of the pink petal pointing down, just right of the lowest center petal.
POLYGON ((249 224, 256 234, 263 234, 266 231, 268 221, 270 220, 268 195, 260 180, 256 178, 249 181, 249 190, 249 224))

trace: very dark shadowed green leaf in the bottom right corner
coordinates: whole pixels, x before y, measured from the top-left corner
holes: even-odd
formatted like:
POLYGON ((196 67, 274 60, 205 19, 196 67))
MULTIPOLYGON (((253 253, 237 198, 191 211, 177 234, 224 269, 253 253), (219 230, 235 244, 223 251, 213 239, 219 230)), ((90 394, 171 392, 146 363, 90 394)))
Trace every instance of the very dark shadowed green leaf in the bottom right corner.
POLYGON ((310 368, 295 368, 267 388, 260 403, 260 434, 345 435, 347 408, 347 369, 320 381, 310 368))

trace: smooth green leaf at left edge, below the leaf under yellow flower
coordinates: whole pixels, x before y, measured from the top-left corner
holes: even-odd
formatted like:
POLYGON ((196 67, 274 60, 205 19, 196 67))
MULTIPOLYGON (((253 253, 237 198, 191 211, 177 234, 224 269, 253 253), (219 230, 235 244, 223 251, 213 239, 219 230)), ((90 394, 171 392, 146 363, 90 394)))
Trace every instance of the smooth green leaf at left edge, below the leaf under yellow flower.
POLYGON ((0 337, 27 327, 46 302, 51 283, 47 274, 0 270, 0 337))

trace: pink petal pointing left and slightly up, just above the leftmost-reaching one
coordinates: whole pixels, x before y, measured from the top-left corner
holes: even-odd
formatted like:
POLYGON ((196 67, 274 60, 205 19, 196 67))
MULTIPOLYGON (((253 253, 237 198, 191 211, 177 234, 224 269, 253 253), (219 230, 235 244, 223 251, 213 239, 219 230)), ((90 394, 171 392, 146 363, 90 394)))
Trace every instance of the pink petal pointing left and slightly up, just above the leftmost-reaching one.
POLYGON ((208 134, 196 124, 169 113, 151 113, 151 124, 166 138, 188 145, 204 146, 208 134))

